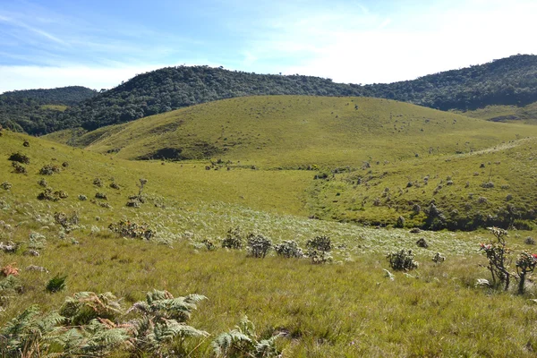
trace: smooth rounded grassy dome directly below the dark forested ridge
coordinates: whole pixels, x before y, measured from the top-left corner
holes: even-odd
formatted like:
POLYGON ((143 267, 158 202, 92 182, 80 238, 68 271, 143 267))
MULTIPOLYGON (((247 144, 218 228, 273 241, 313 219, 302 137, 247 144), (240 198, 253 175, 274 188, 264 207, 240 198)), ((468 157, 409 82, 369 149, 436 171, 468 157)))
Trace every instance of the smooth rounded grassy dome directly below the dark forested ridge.
POLYGON ((483 149, 537 129, 489 124, 430 108, 377 98, 274 96, 234 98, 101 128, 81 138, 88 149, 121 149, 139 158, 161 148, 200 158, 197 143, 214 146, 213 158, 256 166, 362 166, 483 149), (355 109, 354 106, 358 106, 355 109), (218 154, 217 151, 220 150, 218 154))

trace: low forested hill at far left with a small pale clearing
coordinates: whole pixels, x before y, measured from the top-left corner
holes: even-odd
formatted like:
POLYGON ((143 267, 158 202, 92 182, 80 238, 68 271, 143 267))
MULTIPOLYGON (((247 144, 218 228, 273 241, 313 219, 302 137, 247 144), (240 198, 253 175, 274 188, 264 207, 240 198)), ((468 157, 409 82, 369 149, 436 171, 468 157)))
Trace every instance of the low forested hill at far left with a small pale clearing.
POLYGON ((96 94, 81 86, 5 92, 0 95, 0 124, 29 134, 55 132, 64 128, 60 113, 96 94))

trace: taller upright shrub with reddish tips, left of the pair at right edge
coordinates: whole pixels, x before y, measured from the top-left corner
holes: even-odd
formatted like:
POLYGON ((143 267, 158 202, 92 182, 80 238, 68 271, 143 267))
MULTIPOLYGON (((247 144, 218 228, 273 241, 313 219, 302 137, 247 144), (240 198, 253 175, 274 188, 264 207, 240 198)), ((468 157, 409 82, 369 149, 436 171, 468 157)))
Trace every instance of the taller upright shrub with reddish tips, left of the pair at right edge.
POLYGON ((507 230, 499 227, 488 227, 490 233, 496 238, 495 242, 480 243, 480 251, 489 260, 487 268, 492 276, 492 286, 505 284, 505 290, 509 289, 511 273, 509 272, 509 264, 511 262, 509 256, 511 250, 507 247, 506 238, 507 230))

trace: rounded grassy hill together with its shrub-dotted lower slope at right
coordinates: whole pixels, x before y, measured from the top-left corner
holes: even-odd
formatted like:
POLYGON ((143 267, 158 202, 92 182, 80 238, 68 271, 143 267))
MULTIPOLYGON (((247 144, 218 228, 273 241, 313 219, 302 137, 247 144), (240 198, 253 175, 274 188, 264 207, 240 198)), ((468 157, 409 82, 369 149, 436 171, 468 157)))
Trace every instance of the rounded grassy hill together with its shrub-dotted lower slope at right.
POLYGON ((269 96, 107 126, 77 143, 115 158, 309 171, 304 208, 311 217, 473 230, 518 219, 533 226, 529 137, 537 127, 388 99, 269 96), (446 213, 440 223, 432 223, 431 203, 446 213))

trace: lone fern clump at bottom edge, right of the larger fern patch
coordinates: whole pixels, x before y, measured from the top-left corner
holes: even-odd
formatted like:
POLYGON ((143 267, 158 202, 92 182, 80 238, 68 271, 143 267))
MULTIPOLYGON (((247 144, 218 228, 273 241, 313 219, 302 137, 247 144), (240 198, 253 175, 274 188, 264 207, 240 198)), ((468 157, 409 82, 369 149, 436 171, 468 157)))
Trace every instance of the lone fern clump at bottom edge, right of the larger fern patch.
POLYGON ((276 345, 278 337, 280 335, 261 339, 251 320, 243 316, 234 329, 220 334, 212 342, 212 347, 217 357, 279 357, 281 351, 276 345))

